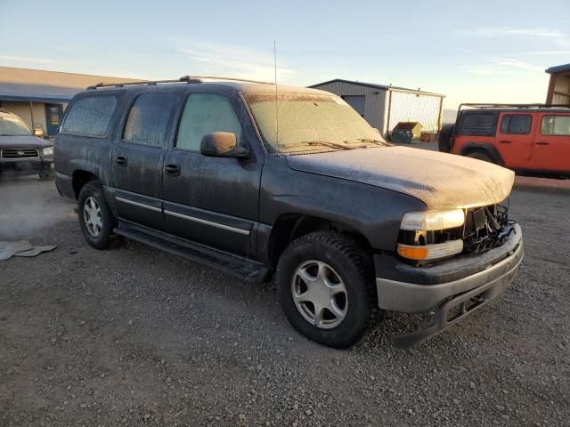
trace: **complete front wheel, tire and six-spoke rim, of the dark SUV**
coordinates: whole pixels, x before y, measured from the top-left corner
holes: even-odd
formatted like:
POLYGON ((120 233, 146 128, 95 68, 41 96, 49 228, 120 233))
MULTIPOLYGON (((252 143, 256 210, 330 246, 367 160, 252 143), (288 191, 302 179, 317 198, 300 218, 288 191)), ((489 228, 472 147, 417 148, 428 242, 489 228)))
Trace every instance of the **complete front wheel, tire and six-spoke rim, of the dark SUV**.
POLYGON ((369 263, 353 242, 331 232, 293 241, 276 272, 281 310, 298 332, 330 347, 362 337, 376 310, 369 263))

